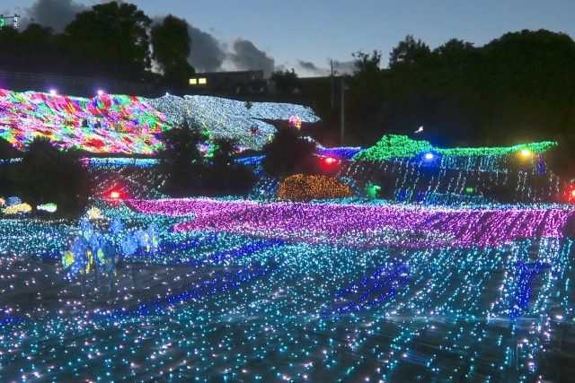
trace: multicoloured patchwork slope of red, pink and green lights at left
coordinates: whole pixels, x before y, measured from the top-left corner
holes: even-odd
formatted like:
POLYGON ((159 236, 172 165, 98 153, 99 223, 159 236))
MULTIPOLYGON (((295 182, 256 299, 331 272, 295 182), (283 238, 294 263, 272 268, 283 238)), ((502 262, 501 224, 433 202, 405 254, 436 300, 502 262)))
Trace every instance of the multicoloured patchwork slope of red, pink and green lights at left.
POLYGON ((170 128, 144 99, 102 94, 93 99, 0 90, 0 137, 24 149, 35 137, 88 152, 155 153, 170 128))

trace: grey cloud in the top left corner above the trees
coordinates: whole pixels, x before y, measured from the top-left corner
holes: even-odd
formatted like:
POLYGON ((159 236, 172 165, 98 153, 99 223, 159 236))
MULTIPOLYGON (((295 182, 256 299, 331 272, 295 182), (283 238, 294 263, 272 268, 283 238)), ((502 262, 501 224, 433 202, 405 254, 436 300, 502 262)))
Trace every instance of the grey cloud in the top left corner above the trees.
POLYGON ((61 32, 74 20, 77 13, 88 9, 90 8, 73 0, 37 0, 30 8, 24 9, 21 27, 25 28, 31 22, 37 22, 61 32))

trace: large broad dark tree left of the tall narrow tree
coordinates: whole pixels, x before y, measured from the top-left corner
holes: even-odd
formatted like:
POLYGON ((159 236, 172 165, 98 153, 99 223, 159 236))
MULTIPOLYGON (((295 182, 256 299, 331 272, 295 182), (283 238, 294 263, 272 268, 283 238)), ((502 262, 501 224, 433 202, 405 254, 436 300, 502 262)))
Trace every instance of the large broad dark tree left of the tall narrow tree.
POLYGON ((109 74, 139 80, 150 68, 151 22, 134 4, 97 4, 66 26, 66 43, 71 52, 100 63, 109 74))

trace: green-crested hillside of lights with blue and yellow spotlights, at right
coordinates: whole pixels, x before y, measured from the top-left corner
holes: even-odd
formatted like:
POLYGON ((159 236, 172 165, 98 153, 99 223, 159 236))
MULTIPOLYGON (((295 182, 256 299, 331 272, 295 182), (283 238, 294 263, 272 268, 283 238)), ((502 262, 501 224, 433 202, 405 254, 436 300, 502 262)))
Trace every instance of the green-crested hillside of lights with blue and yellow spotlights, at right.
POLYGON ((343 161, 337 175, 375 183, 385 179, 392 189, 389 195, 400 202, 565 202, 565 181, 547 170, 544 161, 544 152, 555 145, 444 149, 405 135, 385 135, 343 161), (466 187, 473 187, 473 200, 465 196, 466 187))

